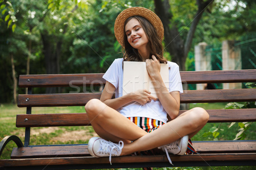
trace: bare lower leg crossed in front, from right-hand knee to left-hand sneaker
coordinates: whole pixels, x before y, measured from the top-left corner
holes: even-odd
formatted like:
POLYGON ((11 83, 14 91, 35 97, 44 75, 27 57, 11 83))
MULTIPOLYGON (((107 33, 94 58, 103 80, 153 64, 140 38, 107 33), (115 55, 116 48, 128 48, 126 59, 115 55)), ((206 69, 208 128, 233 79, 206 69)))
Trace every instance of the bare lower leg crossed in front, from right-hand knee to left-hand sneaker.
POLYGON ((182 136, 194 136, 207 123, 208 119, 209 115, 204 109, 193 108, 140 139, 125 144, 121 156, 169 144, 182 136))

